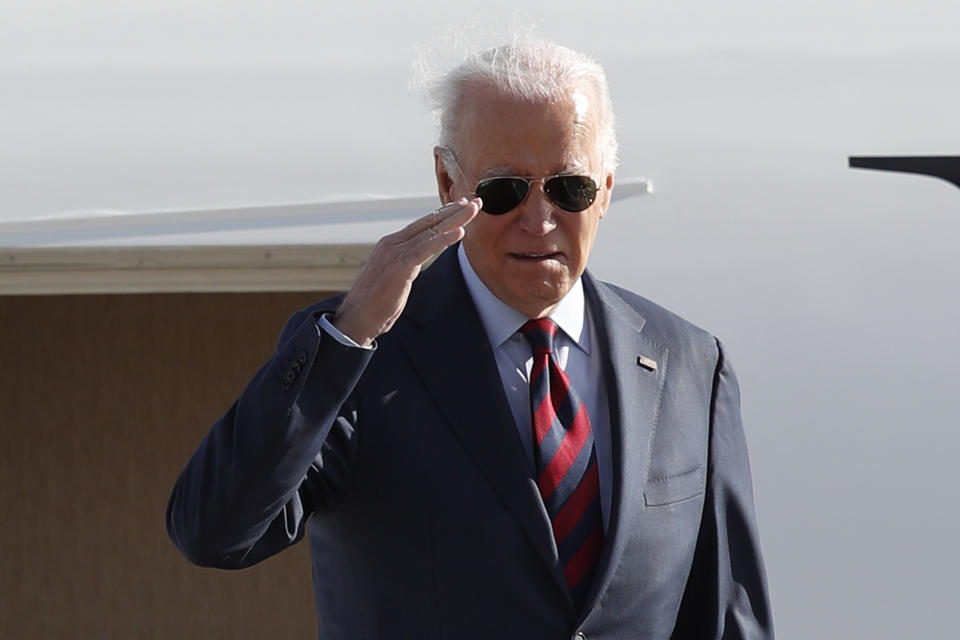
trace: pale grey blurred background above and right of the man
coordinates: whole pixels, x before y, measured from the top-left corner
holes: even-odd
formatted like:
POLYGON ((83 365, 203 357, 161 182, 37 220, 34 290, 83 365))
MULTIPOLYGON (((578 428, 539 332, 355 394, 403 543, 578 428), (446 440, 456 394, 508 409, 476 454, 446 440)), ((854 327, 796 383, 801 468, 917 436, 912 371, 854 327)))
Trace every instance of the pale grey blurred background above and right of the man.
MULTIPOLYGON (((0 8, 5 221, 432 193, 411 63, 516 5, 0 8)), ((605 65, 618 175, 656 184, 591 268, 732 354, 778 636, 954 636, 960 190, 846 158, 960 154, 960 5, 521 8, 605 65)))

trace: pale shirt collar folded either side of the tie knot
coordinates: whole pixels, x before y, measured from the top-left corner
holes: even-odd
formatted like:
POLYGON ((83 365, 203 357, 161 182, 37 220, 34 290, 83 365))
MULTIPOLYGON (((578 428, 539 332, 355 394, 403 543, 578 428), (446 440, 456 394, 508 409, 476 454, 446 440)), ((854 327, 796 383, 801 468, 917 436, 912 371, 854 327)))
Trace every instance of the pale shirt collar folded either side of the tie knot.
MULTIPOLYGON (((487 332, 490 345, 497 349, 510 339, 529 318, 495 296, 470 265, 467 253, 461 244, 457 248, 460 270, 467 283, 467 290, 473 298, 473 304, 480 314, 480 321, 487 332)), ((586 318, 583 282, 577 278, 567 295, 560 300, 550 313, 550 319, 587 355, 590 354, 590 339, 586 318)))

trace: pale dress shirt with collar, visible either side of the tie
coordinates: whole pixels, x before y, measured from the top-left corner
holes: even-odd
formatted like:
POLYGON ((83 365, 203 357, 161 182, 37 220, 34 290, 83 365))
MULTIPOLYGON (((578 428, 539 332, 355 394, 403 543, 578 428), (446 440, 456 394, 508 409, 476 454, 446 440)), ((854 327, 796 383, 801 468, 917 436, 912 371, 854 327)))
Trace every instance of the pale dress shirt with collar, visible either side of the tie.
MULTIPOLYGON (((508 306, 487 288, 470 265, 463 245, 458 248, 457 257, 470 297, 473 298, 493 348, 520 442, 523 443, 531 469, 535 469, 533 426, 530 418, 530 370, 533 367, 533 352, 530 343, 519 332, 529 318, 508 306)), ((579 278, 550 313, 550 319, 560 328, 553 340, 557 363, 570 378, 570 385, 580 396, 580 401, 587 407, 587 415, 590 416, 593 441, 597 449, 597 471, 600 476, 600 507, 603 511, 603 528, 606 530, 610 522, 613 482, 610 412, 600 352, 596 348, 599 344, 597 332, 590 314, 587 313, 583 283, 579 278)))

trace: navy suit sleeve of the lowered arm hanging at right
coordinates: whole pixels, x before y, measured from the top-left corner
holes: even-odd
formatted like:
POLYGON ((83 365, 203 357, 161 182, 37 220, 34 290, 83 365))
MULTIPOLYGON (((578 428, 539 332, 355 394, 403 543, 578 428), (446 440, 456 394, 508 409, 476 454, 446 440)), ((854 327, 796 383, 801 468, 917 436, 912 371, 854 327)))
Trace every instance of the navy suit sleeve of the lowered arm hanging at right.
POLYGON ((719 341, 717 348, 704 511, 673 638, 772 639, 740 388, 719 341))

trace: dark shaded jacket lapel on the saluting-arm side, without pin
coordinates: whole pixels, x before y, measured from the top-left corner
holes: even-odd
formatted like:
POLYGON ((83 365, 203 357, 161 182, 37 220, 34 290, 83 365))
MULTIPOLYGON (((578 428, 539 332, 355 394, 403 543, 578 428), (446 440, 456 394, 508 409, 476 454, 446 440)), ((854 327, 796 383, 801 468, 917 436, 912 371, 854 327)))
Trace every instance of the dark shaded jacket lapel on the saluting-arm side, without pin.
POLYGON ((549 516, 456 247, 420 275, 403 315, 417 326, 403 332, 402 343, 424 386, 567 593, 549 516))

